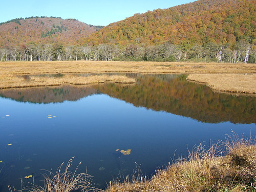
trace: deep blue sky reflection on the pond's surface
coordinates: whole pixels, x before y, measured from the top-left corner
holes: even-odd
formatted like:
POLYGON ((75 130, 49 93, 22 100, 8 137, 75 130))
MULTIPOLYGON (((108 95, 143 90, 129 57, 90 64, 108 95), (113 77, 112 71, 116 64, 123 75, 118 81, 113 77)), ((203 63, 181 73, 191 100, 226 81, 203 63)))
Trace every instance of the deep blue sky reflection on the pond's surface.
MULTIPOLYGON (((141 89, 143 83, 138 85, 141 89)), ((116 88, 113 86, 110 86, 112 91, 116 88)), ((94 89, 108 92, 106 86, 103 87, 94 89)), ((137 87, 118 89, 125 92, 137 87)), ((87 169, 88 174, 94 176, 95 186, 103 188, 118 174, 124 177, 132 174, 135 162, 141 164, 143 173, 151 176, 157 166, 168 164, 175 154, 176 157, 186 155, 187 147, 191 149, 200 142, 208 146, 210 140, 224 139, 231 130, 239 135, 256 134, 254 119, 248 124, 201 122, 166 110, 136 107, 133 104, 137 103, 125 102, 121 92, 112 96, 119 95, 123 100, 106 94, 91 95, 93 93, 76 101, 48 104, 0 98, 0 160, 3 160, 0 168, 4 166, 0 173, 0 191, 7 191, 8 185, 19 189, 19 178, 32 173, 36 182, 42 184, 40 174, 46 172, 40 169, 55 172, 62 162, 73 156, 73 168, 82 161, 79 171, 87 169), (48 118, 49 114, 56 117, 48 118), (8 143, 13 145, 7 146, 8 143), (131 149, 131 155, 122 155, 115 151, 118 148, 131 149)), ((191 100, 193 102, 193 98, 191 100)), ((250 102, 255 105, 255 99, 250 102)), ((255 111, 250 113, 253 116, 255 111)), ((29 179, 24 181, 26 185, 29 179)))

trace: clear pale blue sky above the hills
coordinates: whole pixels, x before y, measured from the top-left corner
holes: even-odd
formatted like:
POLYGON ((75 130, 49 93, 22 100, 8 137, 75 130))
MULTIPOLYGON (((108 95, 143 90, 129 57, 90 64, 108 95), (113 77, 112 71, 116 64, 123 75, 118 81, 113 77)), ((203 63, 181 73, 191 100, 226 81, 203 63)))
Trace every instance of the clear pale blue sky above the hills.
POLYGON ((56 16, 63 19, 75 18, 91 25, 109 25, 135 13, 144 13, 161 8, 194 2, 193 0, 44 0, 20 1, 4 0, 1 2, 0 23, 13 18, 30 16, 56 16))

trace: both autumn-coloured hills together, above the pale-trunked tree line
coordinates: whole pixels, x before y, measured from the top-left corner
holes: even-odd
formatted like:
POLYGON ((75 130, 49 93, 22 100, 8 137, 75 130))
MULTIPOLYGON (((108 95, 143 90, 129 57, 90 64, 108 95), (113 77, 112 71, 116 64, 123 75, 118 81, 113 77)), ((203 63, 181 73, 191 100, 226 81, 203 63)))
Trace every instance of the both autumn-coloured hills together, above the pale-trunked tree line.
POLYGON ((0 25, 0 47, 29 42, 62 45, 142 44, 165 42, 191 48, 195 44, 256 43, 256 1, 199 0, 168 9, 136 13, 109 26, 92 26, 76 19, 30 17, 0 25), (101 29, 102 28, 102 29, 101 29))

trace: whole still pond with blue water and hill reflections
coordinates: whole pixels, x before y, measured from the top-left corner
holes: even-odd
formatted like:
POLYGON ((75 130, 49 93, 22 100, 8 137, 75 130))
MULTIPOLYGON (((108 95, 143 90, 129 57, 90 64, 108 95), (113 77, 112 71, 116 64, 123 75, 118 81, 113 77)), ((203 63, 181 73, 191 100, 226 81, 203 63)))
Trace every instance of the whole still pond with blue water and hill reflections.
POLYGON ((138 165, 150 177, 231 131, 256 134, 256 97, 216 93, 184 74, 126 75, 137 83, 0 90, 0 191, 32 174, 43 185, 41 174, 72 157, 71 169, 82 162, 79 172, 104 188, 138 165))

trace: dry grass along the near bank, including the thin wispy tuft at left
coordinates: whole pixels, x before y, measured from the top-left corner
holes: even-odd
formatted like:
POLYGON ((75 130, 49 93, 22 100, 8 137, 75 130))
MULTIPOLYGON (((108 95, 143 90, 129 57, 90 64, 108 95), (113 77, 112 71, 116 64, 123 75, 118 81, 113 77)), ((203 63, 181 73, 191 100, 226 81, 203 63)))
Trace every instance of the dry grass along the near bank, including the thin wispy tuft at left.
POLYGON ((155 170, 148 178, 139 167, 132 176, 122 176, 123 182, 114 179, 106 189, 90 185, 87 174, 71 174, 68 162, 64 172, 63 164, 56 174, 45 175, 45 186, 32 186, 34 192, 54 191, 256 191, 256 145, 255 139, 239 138, 236 134, 227 136, 225 142, 212 145, 205 150, 202 145, 188 153, 188 159, 180 157, 164 169, 155 170), (223 150, 225 149, 225 150, 223 150))

